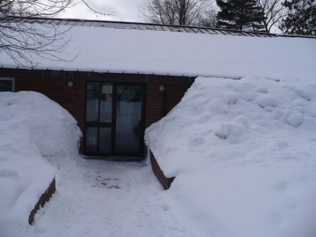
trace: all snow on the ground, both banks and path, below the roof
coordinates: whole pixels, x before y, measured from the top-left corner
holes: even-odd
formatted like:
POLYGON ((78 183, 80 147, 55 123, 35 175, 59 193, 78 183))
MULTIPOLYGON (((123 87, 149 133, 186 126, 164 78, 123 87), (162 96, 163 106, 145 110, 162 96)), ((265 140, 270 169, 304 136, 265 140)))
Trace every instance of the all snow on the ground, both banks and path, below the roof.
POLYGON ((146 130, 176 177, 167 191, 149 160, 79 157, 77 122, 46 96, 1 92, 0 236, 314 237, 315 91, 310 79, 197 78, 146 130))

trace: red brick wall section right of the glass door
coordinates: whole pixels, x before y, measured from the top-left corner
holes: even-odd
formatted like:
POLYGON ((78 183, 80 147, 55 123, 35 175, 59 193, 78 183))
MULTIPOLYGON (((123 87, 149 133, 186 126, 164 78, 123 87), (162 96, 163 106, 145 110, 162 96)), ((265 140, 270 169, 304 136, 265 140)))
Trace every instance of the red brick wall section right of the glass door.
POLYGON ((166 113, 169 113, 183 98, 190 86, 164 84, 164 91, 159 90, 159 84, 147 84, 146 122, 145 127, 162 119, 164 94, 166 93, 166 113))

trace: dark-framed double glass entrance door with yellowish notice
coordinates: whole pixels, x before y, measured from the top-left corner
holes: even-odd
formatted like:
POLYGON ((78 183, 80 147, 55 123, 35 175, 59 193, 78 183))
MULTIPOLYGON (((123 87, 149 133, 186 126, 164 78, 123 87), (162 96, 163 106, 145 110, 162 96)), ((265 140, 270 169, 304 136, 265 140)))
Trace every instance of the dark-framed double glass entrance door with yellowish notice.
POLYGON ((143 84, 87 82, 84 153, 141 156, 144 97, 143 84))

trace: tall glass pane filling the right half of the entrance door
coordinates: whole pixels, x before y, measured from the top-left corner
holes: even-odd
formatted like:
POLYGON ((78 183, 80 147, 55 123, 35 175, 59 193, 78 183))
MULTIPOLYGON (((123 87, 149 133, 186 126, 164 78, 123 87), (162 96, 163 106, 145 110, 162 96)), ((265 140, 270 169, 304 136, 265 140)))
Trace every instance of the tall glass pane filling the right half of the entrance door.
POLYGON ((115 151, 140 153, 142 134, 142 87, 117 87, 115 151))

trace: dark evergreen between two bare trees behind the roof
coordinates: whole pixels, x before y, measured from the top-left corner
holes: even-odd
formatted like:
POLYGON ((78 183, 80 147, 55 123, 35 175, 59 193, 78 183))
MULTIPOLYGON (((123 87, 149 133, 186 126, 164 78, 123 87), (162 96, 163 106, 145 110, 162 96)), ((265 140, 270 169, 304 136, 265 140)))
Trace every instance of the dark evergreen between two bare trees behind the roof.
POLYGON ((218 27, 253 31, 264 28, 264 16, 256 0, 216 0, 216 4, 220 7, 218 27))

